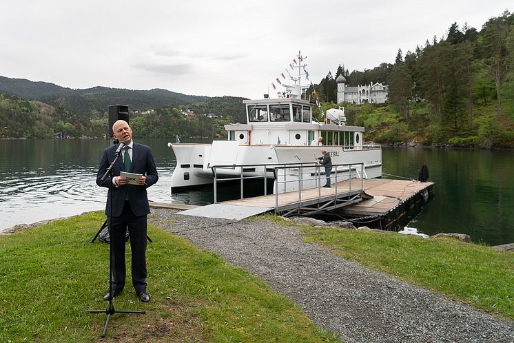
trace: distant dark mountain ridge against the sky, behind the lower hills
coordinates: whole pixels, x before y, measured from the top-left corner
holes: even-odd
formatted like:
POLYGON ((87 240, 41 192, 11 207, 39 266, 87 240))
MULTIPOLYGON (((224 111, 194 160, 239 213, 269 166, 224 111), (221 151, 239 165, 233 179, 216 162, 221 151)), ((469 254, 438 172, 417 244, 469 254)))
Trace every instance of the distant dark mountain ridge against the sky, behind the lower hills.
POLYGON ((11 79, 5 76, 0 76, 0 92, 61 106, 77 114, 89 113, 91 110, 105 112, 108 105, 118 103, 128 105, 131 110, 147 110, 162 106, 198 103, 210 98, 209 96, 187 95, 158 88, 127 90, 97 86, 85 90, 72 90, 54 83, 11 79))

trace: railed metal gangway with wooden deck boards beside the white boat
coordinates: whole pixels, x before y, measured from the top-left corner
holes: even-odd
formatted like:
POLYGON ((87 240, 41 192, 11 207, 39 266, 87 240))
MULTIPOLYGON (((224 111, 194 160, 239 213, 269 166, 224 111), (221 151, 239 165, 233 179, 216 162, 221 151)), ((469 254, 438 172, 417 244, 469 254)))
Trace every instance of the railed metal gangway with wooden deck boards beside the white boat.
POLYGON ((325 181, 324 166, 312 163, 266 165, 213 165, 214 204, 260 207, 262 212, 309 216, 362 201, 364 163, 333 164, 331 188, 320 187, 325 181), (231 176, 227 176, 230 171, 231 176), (221 176, 220 174, 225 174, 221 176), (263 196, 244 197, 245 180, 263 179, 263 196), (267 194, 267 183, 274 181, 274 194, 267 194), (218 202, 218 183, 238 181, 240 198, 218 202))

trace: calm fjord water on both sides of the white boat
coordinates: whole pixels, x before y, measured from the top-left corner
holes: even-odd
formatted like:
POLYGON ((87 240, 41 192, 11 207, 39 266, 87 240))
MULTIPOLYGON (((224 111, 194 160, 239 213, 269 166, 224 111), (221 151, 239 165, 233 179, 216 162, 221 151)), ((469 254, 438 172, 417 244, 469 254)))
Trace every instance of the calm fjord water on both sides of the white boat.
MULTIPOLYGON (((150 145, 156 160, 159 181, 148 189, 150 200, 212 203, 210 189, 170 193, 176 160, 167 142, 174 139, 134 140, 150 145)), ((110 144, 93 139, 0 141, 0 231, 103 209, 107 189, 96 186, 96 169, 110 144)), ((514 242, 514 151, 384 148, 382 154, 384 173, 415 179, 427 165, 435 182, 433 200, 408 227, 428 235, 468 233, 473 242, 489 245, 514 242)))

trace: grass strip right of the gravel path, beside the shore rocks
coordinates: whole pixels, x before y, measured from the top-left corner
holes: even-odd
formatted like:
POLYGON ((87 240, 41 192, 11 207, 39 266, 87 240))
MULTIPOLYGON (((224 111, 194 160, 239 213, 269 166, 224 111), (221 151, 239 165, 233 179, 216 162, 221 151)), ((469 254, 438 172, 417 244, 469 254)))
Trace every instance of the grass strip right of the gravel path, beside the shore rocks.
POLYGON ((514 320, 512 252, 449 238, 308 226, 302 231, 307 242, 338 256, 514 320))

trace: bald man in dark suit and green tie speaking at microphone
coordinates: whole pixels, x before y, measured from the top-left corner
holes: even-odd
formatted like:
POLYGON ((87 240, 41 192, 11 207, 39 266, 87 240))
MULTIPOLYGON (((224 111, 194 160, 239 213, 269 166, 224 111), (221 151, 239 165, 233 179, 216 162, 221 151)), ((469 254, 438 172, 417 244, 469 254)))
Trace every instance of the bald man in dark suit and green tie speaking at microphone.
MULTIPOLYGON (((132 251, 132 285, 136 295, 143 302, 150 301, 146 289, 146 238, 147 214, 150 214, 146 189, 158 180, 154 156, 150 147, 132 141, 132 129, 126 121, 116 121, 112 125, 114 138, 125 142, 121 157, 112 168, 112 178, 103 182, 102 176, 114 160, 116 145, 103 150, 96 185, 110 187, 107 193, 105 215, 110 225, 110 244, 112 249, 112 295, 115 297, 125 287, 125 235, 128 228, 130 249, 132 251), (136 179, 137 185, 130 185, 127 178, 120 176, 121 171, 142 175, 136 179), (111 209, 112 198, 112 209, 111 209)), ((103 300, 109 300, 107 293, 103 300)))

